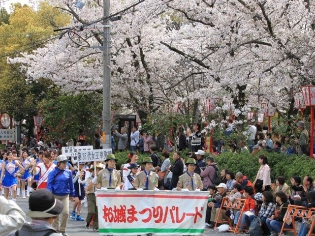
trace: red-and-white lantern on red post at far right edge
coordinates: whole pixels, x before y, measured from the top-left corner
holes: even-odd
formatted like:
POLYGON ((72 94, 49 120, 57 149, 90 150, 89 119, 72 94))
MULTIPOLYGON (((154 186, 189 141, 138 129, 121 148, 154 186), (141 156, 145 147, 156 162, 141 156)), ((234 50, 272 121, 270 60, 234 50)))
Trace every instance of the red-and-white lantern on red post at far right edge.
POLYGON ((314 107, 315 107, 315 86, 302 86, 302 95, 306 107, 311 109, 311 141, 310 141, 310 156, 313 157, 313 143, 314 143, 314 107))

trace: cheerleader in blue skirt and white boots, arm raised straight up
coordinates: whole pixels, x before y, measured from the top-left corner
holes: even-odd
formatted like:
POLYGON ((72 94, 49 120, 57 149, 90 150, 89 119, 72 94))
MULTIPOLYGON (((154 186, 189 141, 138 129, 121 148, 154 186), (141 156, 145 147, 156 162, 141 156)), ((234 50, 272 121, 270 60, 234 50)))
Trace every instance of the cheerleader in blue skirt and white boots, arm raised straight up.
POLYGON ((25 197, 25 181, 28 182, 28 188, 27 188, 27 197, 30 197, 30 189, 32 184, 32 173, 30 172, 30 164, 31 164, 31 158, 29 157, 29 154, 27 151, 22 151, 22 145, 21 147, 21 155, 20 155, 20 161, 22 166, 24 167, 24 174, 21 177, 21 187, 22 187, 22 198, 25 197))

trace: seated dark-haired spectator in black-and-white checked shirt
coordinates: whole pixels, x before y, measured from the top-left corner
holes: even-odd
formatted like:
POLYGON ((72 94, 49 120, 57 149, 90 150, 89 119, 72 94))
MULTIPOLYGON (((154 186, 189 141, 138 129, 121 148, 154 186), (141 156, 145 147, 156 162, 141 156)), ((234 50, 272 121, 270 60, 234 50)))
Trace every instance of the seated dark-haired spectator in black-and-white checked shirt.
POLYGON ((274 196, 270 191, 264 191, 262 193, 262 205, 258 216, 261 220, 261 228, 265 235, 270 235, 266 220, 274 214, 275 208, 276 204, 274 203, 274 196))

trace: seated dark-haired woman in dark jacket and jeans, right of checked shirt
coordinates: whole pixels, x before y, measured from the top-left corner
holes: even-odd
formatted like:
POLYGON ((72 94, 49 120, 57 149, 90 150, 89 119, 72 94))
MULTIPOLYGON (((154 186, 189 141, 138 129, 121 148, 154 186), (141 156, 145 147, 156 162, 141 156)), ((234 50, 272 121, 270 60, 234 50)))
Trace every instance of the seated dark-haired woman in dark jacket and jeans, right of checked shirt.
MULTIPOLYGON (((282 191, 276 192, 275 213, 266 220, 266 225, 271 233, 270 236, 278 236, 280 233, 287 206, 288 203, 285 193, 282 191)), ((291 226, 285 224, 284 228, 291 228, 291 226)))

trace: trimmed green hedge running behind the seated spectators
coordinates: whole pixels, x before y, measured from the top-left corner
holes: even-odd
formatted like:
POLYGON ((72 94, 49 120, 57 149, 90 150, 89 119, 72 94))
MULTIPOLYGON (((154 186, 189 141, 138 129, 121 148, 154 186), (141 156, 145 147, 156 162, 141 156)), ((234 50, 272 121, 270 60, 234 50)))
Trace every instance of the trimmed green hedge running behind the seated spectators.
MULTIPOLYGON (((187 160, 188 151, 181 152, 181 156, 184 156, 187 160)), ((118 159, 118 164, 126 163, 126 152, 116 152, 115 156, 118 159)), ((257 155, 250 153, 231 153, 226 152, 215 156, 215 161, 219 165, 219 169, 228 169, 233 172, 242 172, 249 179, 254 180, 257 171, 259 169, 258 156, 265 154, 268 157, 269 166, 271 169, 271 181, 275 182, 278 176, 283 176, 287 183, 290 183, 290 177, 297 175, 303 178, 306 175, 310 175, 315 178, 315 159, 311 159, 306 155, 285 155, 282 153, 265 152, 261 151, 257 155)), ((144 157, 150 154, 139 154, 138 164, 140 164, 144 157)), ((209 153, 206 153, 208 156, 209 153)), ((161 155, 160 155, 161 156, 161 155)), ((170 160, 172 160, 172 154, 170 153, 170 160)))

